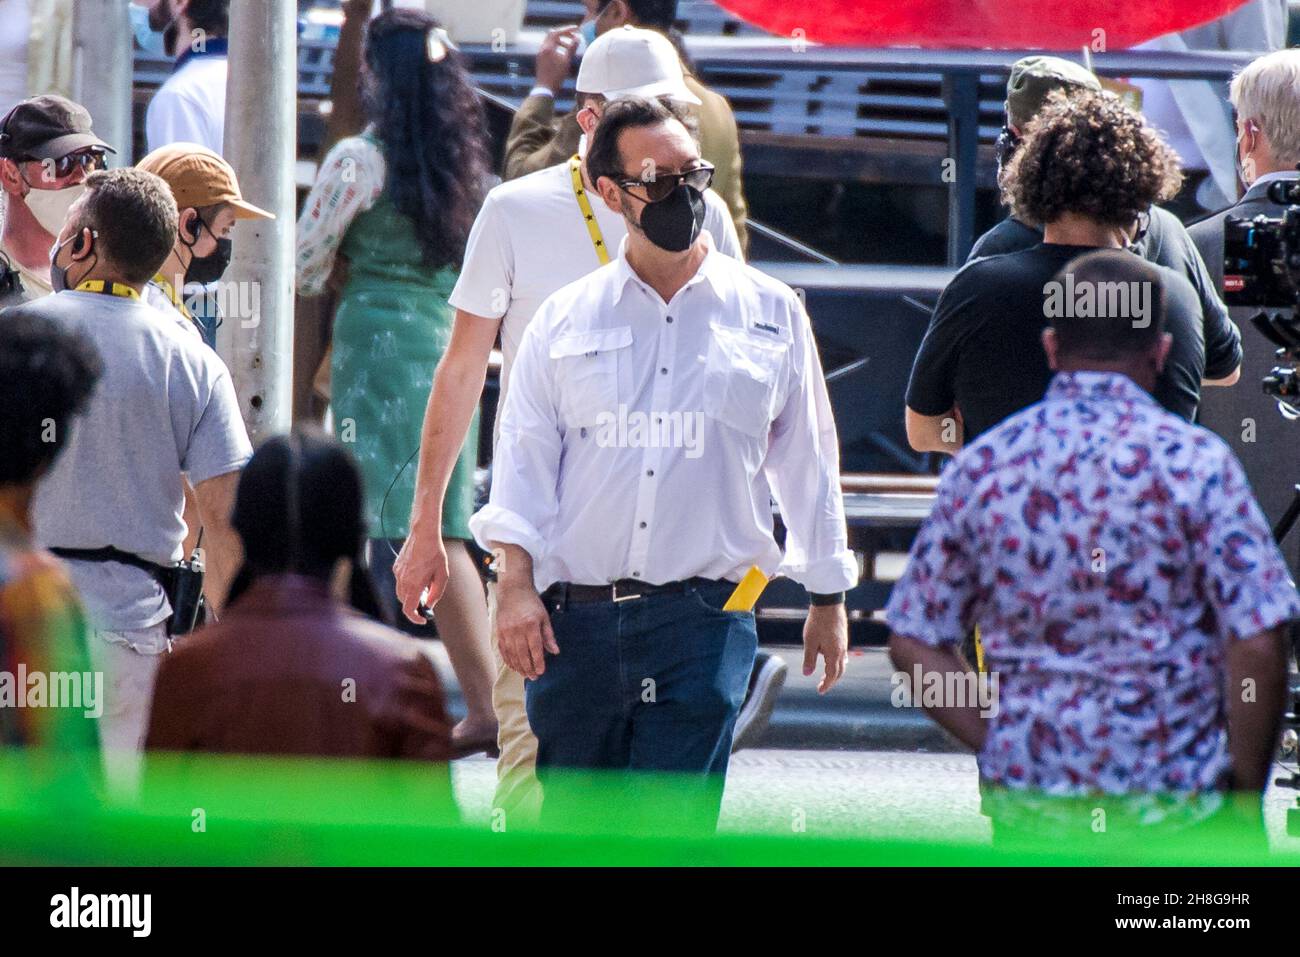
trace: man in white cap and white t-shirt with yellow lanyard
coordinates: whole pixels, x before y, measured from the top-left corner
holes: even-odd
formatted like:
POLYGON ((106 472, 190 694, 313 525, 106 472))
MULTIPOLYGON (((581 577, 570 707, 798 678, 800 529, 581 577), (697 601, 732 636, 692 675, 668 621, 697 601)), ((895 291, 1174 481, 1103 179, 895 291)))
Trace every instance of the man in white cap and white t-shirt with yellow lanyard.
MULTIPOLYGON (((611 56, 589 56, 578 73, 582 103, 578 122, 585 137, 593 135, 607 104, 619 95, 689 103, 681 61, 666 38, 647 30, 620 30, 602 36, 597 46, 608 47, 611 56)), ((355 189, 364 195, 367 168, 361 164, 356 169, 360 172, 355 189)), ((398 597, 412 622, 424 620, 417 605, 425 592, 426 605, 432 606, 447 585, 442 497, 482 395, 498 334, 504 400, 515 354, 533 313, 558 289, 607 261, 627 235, 623 217, 599 202, 592 189, 581 163, 564 163, 502 183, 488 194, 474 221, 450 299, 456 309, 451 342, 434 376, 425 412, 411 534, 394 564, 398 597)), ((714 244, 740 257, 740 241, 725 203, 712 191, 705 194, 705 229, 714 244)), ((489 586, 489 612, 493 606, 494 588, 489 586)), ((541 801, 533 774, 537 739, 524 713, 524 679, 500 661, 493 709, 500 750, 494 806, 508 815, 532 817, 541 801)))

